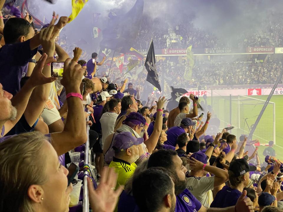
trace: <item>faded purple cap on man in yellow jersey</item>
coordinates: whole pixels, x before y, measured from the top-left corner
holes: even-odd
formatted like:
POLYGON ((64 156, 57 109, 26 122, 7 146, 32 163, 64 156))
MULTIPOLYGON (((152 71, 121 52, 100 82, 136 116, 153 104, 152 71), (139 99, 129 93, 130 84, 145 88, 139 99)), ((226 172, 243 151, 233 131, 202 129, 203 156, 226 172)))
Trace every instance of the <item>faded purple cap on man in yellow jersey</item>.
POLYGON ((143 138, 136 138, 131 132, 121 132, 114 138, 112 148, 115 152, 122 152, 133 145, 139 145, 143 142, 143 138))

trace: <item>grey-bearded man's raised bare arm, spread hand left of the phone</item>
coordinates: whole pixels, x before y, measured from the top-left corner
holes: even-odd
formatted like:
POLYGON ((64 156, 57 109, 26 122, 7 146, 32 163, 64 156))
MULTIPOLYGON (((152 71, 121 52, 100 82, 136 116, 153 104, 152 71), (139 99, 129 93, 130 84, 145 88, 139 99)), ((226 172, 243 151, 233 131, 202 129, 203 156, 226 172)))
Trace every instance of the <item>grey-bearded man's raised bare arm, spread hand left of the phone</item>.
MULTIPOLYGON (((46 78, 42 74, 42 68, 45 64, 45 61, 47 59, 47 55, 44 54, 39 59, 37 65, 34 68, 34 71, 32 72, 32 75, 29 77, 25 85, 22 87, 22 89, 11 99, 12 105, 17 108, 17 117, 15 120, 8 120, 5 122, 5 132, 4 135, 9 132, 14 125, 19 121, 19 119, 22 117, 26 107, 27 103, 29 101, 29 97, 32 94, 32 91, 35 87, 38 85, 46 84, 53 82, 56 78, 50 77, 46 78)), ((39 115, 38 115, 39 116, 39 115)))

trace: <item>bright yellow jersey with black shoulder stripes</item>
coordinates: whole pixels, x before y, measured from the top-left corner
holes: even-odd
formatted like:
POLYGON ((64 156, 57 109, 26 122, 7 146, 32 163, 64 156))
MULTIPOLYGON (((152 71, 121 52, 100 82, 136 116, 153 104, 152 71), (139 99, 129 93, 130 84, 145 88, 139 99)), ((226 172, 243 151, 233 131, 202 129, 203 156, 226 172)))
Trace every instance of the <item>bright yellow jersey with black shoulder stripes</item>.
POLYGON ((134 174, 134 171, 136 170, 135 163, 128 163, 124 160, 115 157, 113 157, 113 160, 109 165, 109 168, 111 167, 114 168, 115 172, 118 175, 116 188, 118 188, 119 185, 125 185, 125 183, 134 174))

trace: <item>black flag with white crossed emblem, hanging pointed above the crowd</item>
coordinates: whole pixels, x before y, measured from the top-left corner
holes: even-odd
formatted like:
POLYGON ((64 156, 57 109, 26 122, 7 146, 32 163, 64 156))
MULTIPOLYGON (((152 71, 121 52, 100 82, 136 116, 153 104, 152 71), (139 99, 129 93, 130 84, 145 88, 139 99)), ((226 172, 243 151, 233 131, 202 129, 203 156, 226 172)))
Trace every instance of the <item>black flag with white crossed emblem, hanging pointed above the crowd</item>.
POLYGON ((144 66, 147 69, 147 82, 157 87, 157 89, 161 92, 158 73, 155 66, 155 54, 152 40, 150 42, 149 50, 147 52, 147 59, 145 60, 144 66))

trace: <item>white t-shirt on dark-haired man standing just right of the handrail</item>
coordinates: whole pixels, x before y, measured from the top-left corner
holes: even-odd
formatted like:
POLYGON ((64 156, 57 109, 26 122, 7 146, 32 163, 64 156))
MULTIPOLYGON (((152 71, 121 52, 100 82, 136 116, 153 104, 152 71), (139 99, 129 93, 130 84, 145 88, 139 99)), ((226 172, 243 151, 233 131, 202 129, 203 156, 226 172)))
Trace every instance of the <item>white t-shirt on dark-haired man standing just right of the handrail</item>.
POLYGON ((100 118, 101 131, 102 131, 102 139, 101 139, 102 149, 108 135, 114 132, 114 125, 117 117, 118 117, 117 113, 105 112, 102 114, 100 118))

